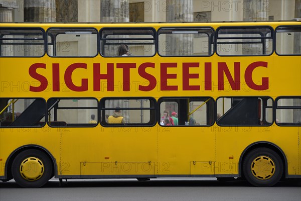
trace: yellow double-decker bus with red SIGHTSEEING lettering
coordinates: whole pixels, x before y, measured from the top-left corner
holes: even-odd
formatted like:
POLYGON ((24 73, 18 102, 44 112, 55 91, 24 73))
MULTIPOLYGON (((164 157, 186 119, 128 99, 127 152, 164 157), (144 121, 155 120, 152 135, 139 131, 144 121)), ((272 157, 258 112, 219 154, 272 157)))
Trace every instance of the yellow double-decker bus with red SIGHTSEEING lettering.
POLYGON ((0 24, 0 179, 301 177, 301 22, 0 24))

